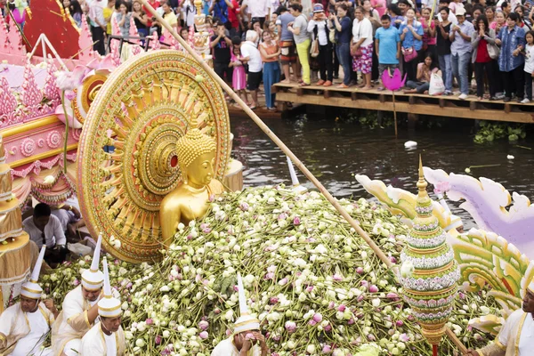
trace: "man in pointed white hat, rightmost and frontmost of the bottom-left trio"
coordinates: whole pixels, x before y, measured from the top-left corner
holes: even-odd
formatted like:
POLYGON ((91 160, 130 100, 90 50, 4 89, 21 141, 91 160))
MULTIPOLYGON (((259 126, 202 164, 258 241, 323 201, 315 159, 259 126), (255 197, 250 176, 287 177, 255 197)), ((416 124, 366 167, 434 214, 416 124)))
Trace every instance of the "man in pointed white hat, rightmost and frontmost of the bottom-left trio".
POLYGON ((100 322, 82 338, 81 356, 123 356, 125 333, 120 326, 121 303, 113 297, 109 285, 108 261, 104 258, 104 296, 98 302, 100 322))

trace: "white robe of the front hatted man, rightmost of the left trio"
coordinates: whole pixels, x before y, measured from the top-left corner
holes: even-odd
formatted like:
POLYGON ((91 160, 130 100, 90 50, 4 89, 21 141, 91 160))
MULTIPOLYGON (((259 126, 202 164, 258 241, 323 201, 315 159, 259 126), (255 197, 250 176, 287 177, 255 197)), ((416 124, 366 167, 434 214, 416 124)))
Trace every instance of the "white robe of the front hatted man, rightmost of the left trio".
POLYGON ((80 356, 122 356, 125 354, 125 332, 119 327, 110 336, 104 334, 101 323, 94 324, 82 338, 80 356))

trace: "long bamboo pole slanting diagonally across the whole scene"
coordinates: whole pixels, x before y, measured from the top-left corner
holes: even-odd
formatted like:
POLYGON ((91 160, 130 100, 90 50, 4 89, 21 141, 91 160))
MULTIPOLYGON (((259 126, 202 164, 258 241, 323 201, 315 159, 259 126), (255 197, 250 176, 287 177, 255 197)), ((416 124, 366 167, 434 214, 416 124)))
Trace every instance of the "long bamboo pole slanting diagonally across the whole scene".
MULTIPOLYGON (((375 252, 375 254, 378 256, 378 258, 380 258, 380 260, 388 268, 392 268, 394 263, 392 263, 392 261, 389 259, 389 257, 384 254, 384 251, 382 251, 380 249, 380 247, 378 247, 376 245, 375 241, 373 241, 368 236, 367 232, 365 232, 365 231, 363 231, 363 229, 361 229, 360 225, 358 223, 356 223, 354 221, 354 219, 352 219, 352 216, 349 213, 346 212, 344 207, 339 204, 337 199, 334 198, 332 196, 332 194, 330 194, 330 192, 317 180, 317 178, 315 178, 315 176, 312 174, 312 172, 310 172, 308 170, 308 168, 306 168, 306 166, 303 165, 301 160, 298 159, 295 156, 295 154, 291 150, 289 150, 289 148, 287 148, 286 144, 284 142, 282 142, 278 138, 278 136, 271 131, 269 126, 267 126, 267 125, 265 125, 263 123, 262 119, 260 117, 258 117, 252 109, 250 109, 248 107, 248 105, 245 103, 245 101, 241 100, 239 95, 237 93, 235 93, 231 89, 231 87, 229 85, 227 85, 226 82, 224 82, 224 80, 221 77, 217 76, 217 74, 214 72, 214 69, 212 69, 210 66, 208 66, 206 61, 204 61, 202 59, 202 57, 200 57, 198 55, 198 53, 196 53, 190 47, 190 45, 187 42, 185 42, 185 40, 176 33, 174 28, 172 28, 168 23, 166 23, 165 20, 163 20, 163 17, 161 17, 161 15, 159 15, 158 12, 156 12, 156 10, 149 4, 149 2, 147 0, 141 0, 141 2, 145 6, 145 8, 149 10, 149 12, 152 14, 152 16, 154 16, 158 20, 158 22, 161 24, 161 26, 166 28, 166 30, 169 31, 169 33, 172 36, 174 36, 176 41, 178 41, 178 43, 181 44, 182 47, 188 53, 190 53, 190 55, 196 61, 198 61, 200 66, 204 70, 206 70, 206 72, 209 73, 209 75, 211 77, 213 77, 214 80, 217 81, 217 83, 219 83, 219 85, 221 85, 221 87, 224 89, 224 91, 226 93, 228 93, 230 95, 230 97, 239 104, 241 109, 243 109, 250 118, 252 118, 252 120, 255 122, 255 124, 258 125, 267 136, 269 136, 269 138, 272 140, 272 142, 276 143, 276 145, 279 147, 279 149, 282 150, 286 154, 286 156, 288 158, 291 158, 291 160, 293 161, 295 166, 297 166, 297 168, 301 170, 301 172, 306 176, 306 178, 308 178, 310 180, 310 182, 312 182, 313 185, 315 185, 315 187, 318 190, 320 190, 320 192, 325 196, 325 198, 327 198, 328 202, 330 202, 330 204, 332 204, 332 206, 334 206, 336 208, 337 212, 344 217, 344 219, 347 221, 347 223, 349 223, 352 226, 352 228, 354 228, 354 230, 356 232, 358 232, 358 234, 360 235, 361 239, 364 239, 364 241, 368 244, 369 247, 371 247, 371 249, 375 252)), ((395 273, 395 275, 398 275, 398 269, 396 267, 393 268, 393 272, 395 273)), ((450 332, 449 328, 447 328, 447 332, 448 332, 448 335, 449 335, 449 332, 450 332)), ((451 338, 451 340, 454 342, 454 344, 457 345, 457 347, 460 350, 462 350, 462 351, 465 350, 465 346, 456 337, 455 338, 451 338)))

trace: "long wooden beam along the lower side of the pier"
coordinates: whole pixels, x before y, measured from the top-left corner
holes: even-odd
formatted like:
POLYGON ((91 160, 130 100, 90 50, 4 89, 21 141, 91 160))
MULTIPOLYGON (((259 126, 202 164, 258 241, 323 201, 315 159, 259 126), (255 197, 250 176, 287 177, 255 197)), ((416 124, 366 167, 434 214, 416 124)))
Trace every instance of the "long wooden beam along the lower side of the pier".
MULTIPOLYGON (((354 93, 356 94, 356 93, 354 93)), ((347 97, 330 97, 328 101, 325 101, 322 95, 303 95, 297 96, 295 93, 279 93, 277 94, 277 101, 290 101, 290 102, 299 102, 303 104, 313 104, 313 105, 325 105, 325 106, 334 106, 340 108, 354 108, 354 109, 368 109, 368 110, 385 110, 392 111, 393 104, 391 101, 386 101, 380 103, 377 100, 360 100, 352 99, 347 97)), ((437 105, 429 104, 413 104, 410 105, 406 101, 396 101, 395 108, 397 112, 410 112, 413 114, 419 115, 430 115, 430 116, 439 116, 439 117, 462 117, 462 118, 473 118, 479 120, 491 120, 491 121, 506 121, 506 122, 517 122, 517 123, 534 123, 534 114, 527 112, 515 112, 511 111, 506 112, 505 110, 498 109, 475 109, 470 110, 469 108, 462 108, 452 106, 447 109, 437 109, 437 105)))

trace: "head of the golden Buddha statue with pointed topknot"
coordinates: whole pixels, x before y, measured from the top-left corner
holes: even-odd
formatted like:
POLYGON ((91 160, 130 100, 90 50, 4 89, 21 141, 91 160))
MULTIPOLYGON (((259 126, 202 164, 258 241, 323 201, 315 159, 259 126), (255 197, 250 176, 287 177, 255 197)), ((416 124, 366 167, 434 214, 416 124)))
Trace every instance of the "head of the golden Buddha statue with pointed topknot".
POLYGON ((176 142, 176 156, 184 184, 201 188, 211 182, 214 176, 215 150, 214 139, 200 132, 197 118, 194 117, 187 134, 176 142))

